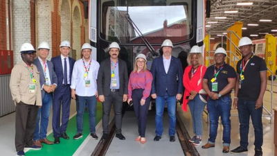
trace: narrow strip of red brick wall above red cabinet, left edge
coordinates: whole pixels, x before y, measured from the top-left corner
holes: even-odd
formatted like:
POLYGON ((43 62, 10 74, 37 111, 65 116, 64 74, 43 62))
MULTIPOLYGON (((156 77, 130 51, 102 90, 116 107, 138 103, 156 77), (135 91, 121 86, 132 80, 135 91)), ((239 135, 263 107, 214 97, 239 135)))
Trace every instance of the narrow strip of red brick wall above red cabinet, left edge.
POLYGON ((6 1, 0 1, 0 50, 7 49, 7 24, 6 24, 6 1))

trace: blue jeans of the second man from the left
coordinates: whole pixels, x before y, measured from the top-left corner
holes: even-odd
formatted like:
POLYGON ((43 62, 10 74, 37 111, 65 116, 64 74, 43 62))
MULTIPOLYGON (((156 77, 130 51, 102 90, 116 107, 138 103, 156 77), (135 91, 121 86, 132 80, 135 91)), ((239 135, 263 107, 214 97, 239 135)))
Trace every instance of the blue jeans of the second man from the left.
POLYGON ((52 104, 52 93, 44 94, 44 98, 42 98, 42 107, 37 111, 37 124, 35 125, 35 133, 33 140, 37 141, 39 139, 45 139, 47 135, 47 127, 49 114, 52 104), (42 120, 40 120, 42 117, 42 120), (39 121, 40 121, 40 130, 39 130, 39 121))

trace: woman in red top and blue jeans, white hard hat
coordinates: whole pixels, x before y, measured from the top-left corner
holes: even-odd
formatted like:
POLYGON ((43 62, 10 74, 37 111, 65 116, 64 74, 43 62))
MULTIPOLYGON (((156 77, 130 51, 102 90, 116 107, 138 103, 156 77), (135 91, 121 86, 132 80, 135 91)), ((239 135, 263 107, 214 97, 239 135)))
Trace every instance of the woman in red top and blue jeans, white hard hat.
POLYGON ((193 46, 188 54, 188 67, 184 71, 183 84, 185 87, 183 110, 187 112, 187 105, 193 119, 194 136, 189 141, 195 145, 202 142, 202 113, 206 105, 206 93, 202 88, 203 76, 206 72, 202 50, 193 46))

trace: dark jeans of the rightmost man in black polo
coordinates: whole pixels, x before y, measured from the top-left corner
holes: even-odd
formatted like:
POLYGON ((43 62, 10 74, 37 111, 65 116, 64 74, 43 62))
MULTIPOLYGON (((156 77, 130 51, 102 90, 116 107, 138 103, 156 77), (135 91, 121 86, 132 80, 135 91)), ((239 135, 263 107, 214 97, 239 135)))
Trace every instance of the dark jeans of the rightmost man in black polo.
POLYGON ((247 149, 249 119, 251 116, 255 132, 255 149, 262 150, 262 107, 260 107, 258 110, 255 110, 255 107, 256 101, 238 100, 238 117, 240 119, 240 146, 242 146, 244 149, 247 149))

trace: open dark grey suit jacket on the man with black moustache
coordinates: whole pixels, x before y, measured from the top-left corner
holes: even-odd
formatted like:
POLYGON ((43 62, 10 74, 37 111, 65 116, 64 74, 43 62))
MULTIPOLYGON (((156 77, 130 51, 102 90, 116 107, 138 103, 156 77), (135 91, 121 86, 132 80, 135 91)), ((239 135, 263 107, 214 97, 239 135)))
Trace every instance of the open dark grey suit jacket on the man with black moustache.
MULTIPOLYGON (((128 94, 128 71, 126 62, 118 58, 118 72, 119 72, 119 94, 128 94)), ((100 64, 97 78, 98 94, 109 96, 111 85, 111 60, 107 58, 100 64)))

